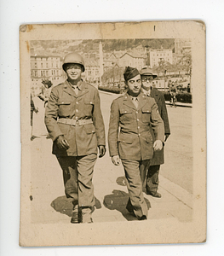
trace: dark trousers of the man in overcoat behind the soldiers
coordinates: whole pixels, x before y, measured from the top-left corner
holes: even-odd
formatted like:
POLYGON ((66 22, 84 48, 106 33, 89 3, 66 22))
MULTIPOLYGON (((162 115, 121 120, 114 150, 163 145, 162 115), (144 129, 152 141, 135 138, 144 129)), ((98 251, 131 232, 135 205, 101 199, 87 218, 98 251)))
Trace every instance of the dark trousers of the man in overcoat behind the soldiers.
POLYGON ((146 191, 149 193, 156 193, 158 190, 158 172, 160 165, 149 166, 146 177, 146 191))

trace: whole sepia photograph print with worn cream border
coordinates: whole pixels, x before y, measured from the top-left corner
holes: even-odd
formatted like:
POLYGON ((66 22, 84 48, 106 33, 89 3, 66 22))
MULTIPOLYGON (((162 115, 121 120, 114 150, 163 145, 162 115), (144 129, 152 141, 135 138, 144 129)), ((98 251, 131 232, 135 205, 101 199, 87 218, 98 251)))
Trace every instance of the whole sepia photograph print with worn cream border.
POLYGON ((203 22, 22 25, 20 113, 20 246, 206 241, 203 22))

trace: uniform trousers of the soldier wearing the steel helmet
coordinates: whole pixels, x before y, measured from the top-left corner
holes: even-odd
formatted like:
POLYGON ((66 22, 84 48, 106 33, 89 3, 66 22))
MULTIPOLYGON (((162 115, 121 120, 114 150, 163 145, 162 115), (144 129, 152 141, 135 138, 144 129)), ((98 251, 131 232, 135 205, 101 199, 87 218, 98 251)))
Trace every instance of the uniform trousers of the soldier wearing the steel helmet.
POLYGON ((96 154, 57 156, 63 171, 66 197, 73 199, 73 205, 89 208, 95 206, 92 179, 96 158, 96 154))

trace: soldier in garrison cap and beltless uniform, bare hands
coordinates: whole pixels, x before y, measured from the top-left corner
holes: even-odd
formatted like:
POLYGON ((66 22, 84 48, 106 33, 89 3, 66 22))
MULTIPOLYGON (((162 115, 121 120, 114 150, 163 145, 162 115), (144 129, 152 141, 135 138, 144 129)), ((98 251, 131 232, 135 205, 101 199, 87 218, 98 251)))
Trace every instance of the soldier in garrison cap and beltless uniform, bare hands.
POLYGON ((112 102, 108 143, 112 163, 122 161, 128 181, 127 210, 136 218, 147 217, 142 184, 154 150, 164 142, 164 122, 154 99, 141 92, 141 76, 136 68, 126 67, 123 74, 128 92, 112 102), (152 131, 156 140, 152 141, 152 131))

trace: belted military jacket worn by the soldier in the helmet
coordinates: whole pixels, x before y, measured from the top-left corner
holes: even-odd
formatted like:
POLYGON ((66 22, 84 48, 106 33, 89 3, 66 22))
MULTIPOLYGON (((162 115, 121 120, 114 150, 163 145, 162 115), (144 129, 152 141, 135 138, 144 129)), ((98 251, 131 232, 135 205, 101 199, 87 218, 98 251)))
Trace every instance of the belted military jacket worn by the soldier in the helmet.
POLYGON ((45 112, 45 125, 53 139, 53 154, 59 156, 80 156, 97 154, 97 146, 105 145, 105 128, 101 114, 101 102, 97 89, 81 81, 78 95, 65 81, 51 90, 45 112), (58 119, 92 119, 92 124, 66 125, 58 119), (66 137, 70 148, 60 150, 55 139, 60 135, 66 137))

